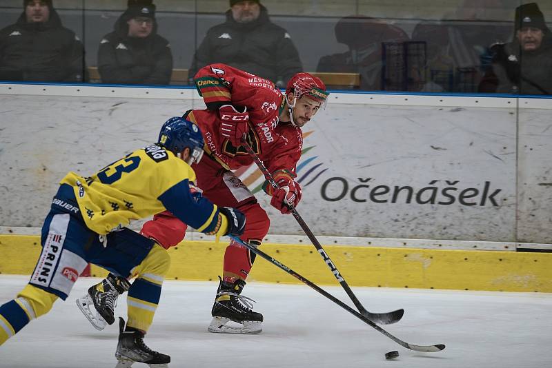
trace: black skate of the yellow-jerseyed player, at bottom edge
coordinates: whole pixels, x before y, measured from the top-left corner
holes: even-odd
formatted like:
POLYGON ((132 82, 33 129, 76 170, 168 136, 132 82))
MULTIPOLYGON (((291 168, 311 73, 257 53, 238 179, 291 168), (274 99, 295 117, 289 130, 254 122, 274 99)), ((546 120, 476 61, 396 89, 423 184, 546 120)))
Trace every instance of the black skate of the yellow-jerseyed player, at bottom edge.
POLYGON ((170 363, 170 356, 153 351, 144 344, 144 332, 128 326, 125 329, 125 320, 121 317, 115 358, 118 360, 115 368, 130 368, 135 362, 145 363, 150 368, 168 368, 170 363))

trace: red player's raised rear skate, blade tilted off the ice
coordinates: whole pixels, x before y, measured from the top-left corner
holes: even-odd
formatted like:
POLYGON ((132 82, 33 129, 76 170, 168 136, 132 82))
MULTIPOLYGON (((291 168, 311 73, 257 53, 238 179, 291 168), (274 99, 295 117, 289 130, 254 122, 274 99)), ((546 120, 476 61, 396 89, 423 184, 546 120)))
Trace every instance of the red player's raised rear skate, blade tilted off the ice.
POLYGON ((77 299, 77 306, 92 326, 101 331, 106 324, 112 325, 115 322, 117 298, 127 292, 129 287, 130 283, 126 278, 108 274, 101 283, 90 287, 88 294, 77 299))

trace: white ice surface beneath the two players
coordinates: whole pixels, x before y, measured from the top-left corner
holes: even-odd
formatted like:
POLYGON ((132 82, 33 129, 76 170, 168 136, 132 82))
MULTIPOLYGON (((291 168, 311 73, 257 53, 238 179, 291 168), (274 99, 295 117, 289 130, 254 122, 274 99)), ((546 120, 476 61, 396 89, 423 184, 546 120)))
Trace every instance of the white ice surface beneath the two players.
MULTIPOLYGON (((0 276, 0 304, 14 298, 27 276, 0 276)), ((75 299, 97 278, 80 278, 65 302, 33 320, 0 347, 0 367, 115 367, 117 327, 96 331, 75 299)), ((255 336, 210 334, 216 283, 166 281, 145 342, 169 354, 169 367, 552 367, 552 294, 455 292, 354 287, 370 311, 404 308, 384 329, 407 343, 443 343, 444 351, 404 349, 306 285, 250 283, 264 330, 255 336), (385 353, 400 356, 385 360, 385 353)), ((324 287, 344 300, 341 287, 324 287)), ((116 314, 126 318, 126 299, 116 314)), ((146 367, 135 363, 133 368, 146 367)))

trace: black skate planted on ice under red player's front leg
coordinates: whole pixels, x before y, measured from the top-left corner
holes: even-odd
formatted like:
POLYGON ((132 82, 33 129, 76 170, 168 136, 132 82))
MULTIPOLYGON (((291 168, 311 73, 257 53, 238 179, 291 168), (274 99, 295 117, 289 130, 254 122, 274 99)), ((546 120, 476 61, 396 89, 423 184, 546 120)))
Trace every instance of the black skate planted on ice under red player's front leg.
POLYGON ((252 300, 240 295, 246 282, 236 280, 234 283, 225 283, 219 277, 219 289, 211 315, 213 320, 209 325, 209 332, 224 334, 259 334, 262 331, 263 315, 252 311, 252 300), (239 323, 242 327, 226 325, 228 321, 239 323))

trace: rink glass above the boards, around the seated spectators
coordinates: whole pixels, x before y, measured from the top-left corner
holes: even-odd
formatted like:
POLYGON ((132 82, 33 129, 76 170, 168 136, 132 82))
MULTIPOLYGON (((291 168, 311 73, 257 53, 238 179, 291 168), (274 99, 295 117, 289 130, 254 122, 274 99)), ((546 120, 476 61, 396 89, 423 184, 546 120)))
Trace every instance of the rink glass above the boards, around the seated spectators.
MULTIPOLYGON (((158 33, 170 41, 174 68, 188 70, 207 30, 224 22, 228 1, 155 3, 158 33)), ((308 72, 358 73, 361 83, 355 90, 477 93, 489 67, 488 48, 511 41, 520 1, 266 0, 262 4, 271 21, 288 31, 308 72)), ((54 5, 63 25, 83 41, 86 67, 96 67, 99 41, 112 31, 126 1, 57 0, 54 5)), ((552 3, 538 5, 551 21, 552 3)), ((3 1, 0 9, 2 28, 14 23, 23 10, 19 0, 3 1)))

